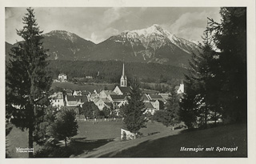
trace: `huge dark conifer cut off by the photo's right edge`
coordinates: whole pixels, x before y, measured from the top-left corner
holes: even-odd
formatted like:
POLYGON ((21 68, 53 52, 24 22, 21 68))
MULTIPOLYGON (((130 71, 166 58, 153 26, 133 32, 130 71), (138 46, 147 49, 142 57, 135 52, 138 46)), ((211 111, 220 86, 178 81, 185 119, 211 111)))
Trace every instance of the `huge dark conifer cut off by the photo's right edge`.
POLYGON ((219 53, 223 116, 230 122, 247 121, 246 7, 223 7, 221 23, 210 19, 219 53))

